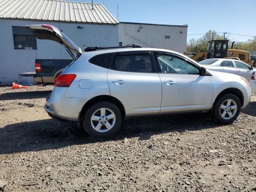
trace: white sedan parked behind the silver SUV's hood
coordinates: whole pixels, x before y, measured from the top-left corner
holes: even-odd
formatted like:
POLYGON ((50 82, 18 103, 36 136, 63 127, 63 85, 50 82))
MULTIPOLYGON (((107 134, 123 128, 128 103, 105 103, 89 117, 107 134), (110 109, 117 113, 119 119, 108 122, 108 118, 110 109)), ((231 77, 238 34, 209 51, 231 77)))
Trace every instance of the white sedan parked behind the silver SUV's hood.
POLYGON ((255 69, 242 61, 234 59, 206 59, 199 62, 209 70, 232 73, 246 78, 252 89, 256 93, 255 69))

